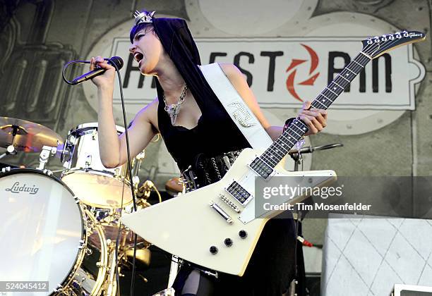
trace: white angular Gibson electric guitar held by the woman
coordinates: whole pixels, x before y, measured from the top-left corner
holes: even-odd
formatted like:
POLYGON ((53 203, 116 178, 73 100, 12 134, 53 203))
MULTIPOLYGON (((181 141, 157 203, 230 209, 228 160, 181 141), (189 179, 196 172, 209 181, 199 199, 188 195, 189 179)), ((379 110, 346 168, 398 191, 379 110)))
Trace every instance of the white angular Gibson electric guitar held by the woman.
MULTIPOLYGON (((397 32, 362 41, 363 49, 313 100, 317 109, 328 109, 344 88, 371 59, 403 44, 425 38, 421 32, 397 32)), ((287 180, 319 187, 336 179, 334 171, 285 171, 281 160, 308 128, 299 118, 263 153, 244 149, 226 175, 161 204, 136 211, 121 219, 126 226, 157 247, 208 269, 242 276, 265 223, 278 214, 267 211, 255 216, 255 178, 287 180), (303 180, 303 181, 302 181, 303 180)), ((287 197, 280 204, 301 202, 306 196, 287 197)), ((258 202, 257 202, 258 204, 258 202)))

